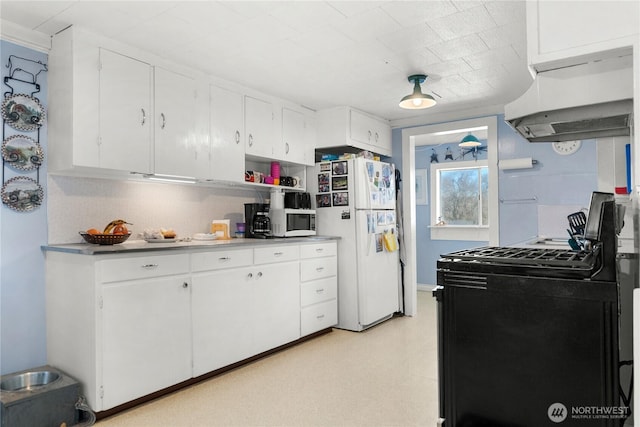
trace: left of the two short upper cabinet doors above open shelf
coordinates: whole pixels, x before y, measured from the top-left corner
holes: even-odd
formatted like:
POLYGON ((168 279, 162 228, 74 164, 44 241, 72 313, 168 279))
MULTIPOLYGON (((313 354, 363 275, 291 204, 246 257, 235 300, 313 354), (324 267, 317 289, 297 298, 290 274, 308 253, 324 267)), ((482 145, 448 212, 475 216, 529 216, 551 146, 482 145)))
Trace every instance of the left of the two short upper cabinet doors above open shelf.
POLYGON ((245 96, 246 154, 273 157, 273 105, 245 96))

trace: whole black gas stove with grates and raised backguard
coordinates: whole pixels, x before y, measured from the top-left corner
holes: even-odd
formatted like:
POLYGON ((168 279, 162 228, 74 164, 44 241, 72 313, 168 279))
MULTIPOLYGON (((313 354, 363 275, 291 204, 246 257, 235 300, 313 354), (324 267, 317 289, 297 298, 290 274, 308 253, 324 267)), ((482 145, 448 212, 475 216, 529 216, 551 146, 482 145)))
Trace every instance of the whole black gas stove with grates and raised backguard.
POLYGON ((602 194, 583 250, 487 246, 438 260, 443 425, 623 424, 572 417, 621 403, 616 207, 602 194))

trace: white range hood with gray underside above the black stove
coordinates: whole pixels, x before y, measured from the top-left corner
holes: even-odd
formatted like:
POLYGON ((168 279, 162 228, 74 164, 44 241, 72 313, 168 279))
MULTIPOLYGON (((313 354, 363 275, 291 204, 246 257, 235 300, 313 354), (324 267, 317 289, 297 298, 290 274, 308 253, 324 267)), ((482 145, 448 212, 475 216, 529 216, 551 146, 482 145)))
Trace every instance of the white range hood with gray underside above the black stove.
POLYGON ((572 141, 630 134, 631 55, 538 73, 505 105, 505 121, 529 142, 572 141))

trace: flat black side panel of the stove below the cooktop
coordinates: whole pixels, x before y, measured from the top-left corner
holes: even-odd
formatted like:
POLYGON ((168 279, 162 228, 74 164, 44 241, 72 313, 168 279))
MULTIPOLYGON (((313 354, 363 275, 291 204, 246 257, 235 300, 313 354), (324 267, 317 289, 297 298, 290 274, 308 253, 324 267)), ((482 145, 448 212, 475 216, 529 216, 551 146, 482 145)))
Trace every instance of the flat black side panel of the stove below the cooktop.
POLYGON ((556 403, 578 425, 572 408, 619 407, 615 282, 439 271, 438 285, 445 425, 552 425, 556 403))

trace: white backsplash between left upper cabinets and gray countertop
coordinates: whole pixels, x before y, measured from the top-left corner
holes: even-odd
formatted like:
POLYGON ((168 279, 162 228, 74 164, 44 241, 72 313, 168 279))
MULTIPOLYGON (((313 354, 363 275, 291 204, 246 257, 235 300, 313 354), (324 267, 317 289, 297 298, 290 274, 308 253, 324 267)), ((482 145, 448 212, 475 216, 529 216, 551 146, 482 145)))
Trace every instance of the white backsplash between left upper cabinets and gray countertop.
POLYGON ((173 228, 179 237, 209 232, 214 219, 229 219, 231 233, 244 221, 244 204, 263 201, 268 193, 249 188, 213 188, 99 178, 49 176, 48 242, 78 243, 79 231, 101 230, 122 218, 132 238, 146 228, 173 228))

